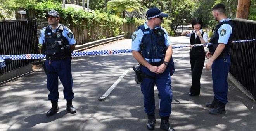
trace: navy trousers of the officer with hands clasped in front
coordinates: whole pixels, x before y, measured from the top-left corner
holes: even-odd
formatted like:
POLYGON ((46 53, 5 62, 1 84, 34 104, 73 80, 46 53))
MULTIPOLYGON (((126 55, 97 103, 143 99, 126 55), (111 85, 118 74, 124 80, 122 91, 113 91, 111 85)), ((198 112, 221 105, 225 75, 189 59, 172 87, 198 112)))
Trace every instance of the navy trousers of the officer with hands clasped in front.
POLYGON ((161 96, 159 115, 162 117, 170 116, 173 97, 171 92, 170 67, 166 67, 163 74, 156 74, 147 69, 147 67, 142 66, 142 73, 154 77, 154 79, 143 77, 140 85, 141 92, 144 96, 145 113, 148 115, 155 114, 154 86, 156 85, 161 96))

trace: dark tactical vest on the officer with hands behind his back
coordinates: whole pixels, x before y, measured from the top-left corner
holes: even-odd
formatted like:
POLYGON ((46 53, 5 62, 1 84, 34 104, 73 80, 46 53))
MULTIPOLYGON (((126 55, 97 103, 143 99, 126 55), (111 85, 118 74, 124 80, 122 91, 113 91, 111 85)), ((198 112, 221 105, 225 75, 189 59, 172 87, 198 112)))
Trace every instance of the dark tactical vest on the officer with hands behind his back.
POLYGON ((61 60, 70 55, 69 42, 62 35, 64 26, 60 25, 56 32, 52 32, 50 26, 45 27, 45 42, 43 43, 43 54, 47 55, 47 59, 61 60))

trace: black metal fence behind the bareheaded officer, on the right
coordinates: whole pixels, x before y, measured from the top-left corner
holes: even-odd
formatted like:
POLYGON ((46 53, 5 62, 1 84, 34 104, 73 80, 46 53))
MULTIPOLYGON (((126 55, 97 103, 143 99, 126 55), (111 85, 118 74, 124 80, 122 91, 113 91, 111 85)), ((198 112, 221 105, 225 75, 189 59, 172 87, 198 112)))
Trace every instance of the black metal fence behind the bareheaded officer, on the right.
MULTIPOLYGON (((233 20, 235 24, 233 40, 256 39, 256 21, 233 20)), ((230 74, 256 98, 256 42, 231 44, 230 74)))

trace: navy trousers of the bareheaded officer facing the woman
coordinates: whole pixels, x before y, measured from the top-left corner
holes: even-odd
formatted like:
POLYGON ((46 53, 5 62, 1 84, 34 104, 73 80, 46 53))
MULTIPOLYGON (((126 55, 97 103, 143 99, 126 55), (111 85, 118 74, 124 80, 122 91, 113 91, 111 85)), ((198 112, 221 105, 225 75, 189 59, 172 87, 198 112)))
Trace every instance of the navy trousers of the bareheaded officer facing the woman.
POLYGON ((228 71, 230 56, 214 60, 212 65, 213 92, 218 101, 226 104, 228 102, 228 71))

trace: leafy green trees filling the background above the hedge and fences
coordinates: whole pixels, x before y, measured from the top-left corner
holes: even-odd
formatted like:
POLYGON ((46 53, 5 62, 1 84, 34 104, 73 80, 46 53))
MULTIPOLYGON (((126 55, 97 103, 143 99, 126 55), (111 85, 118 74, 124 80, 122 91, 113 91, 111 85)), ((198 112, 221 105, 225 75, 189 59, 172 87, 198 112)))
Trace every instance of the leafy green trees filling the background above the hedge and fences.
MULTIPOLYGON (((179 25, 190 23, 194 18, 201 18, 204 27, 213 27, 216 21, 213 19, 211 8, 217 3, 226 6, 228 18, 235 18, 238 0, 106 0, 107 14, 117 15, 133 20, 134 18, 145 20, 145 13, 149 8, 157 7, 169 17, 165 18, 166 27, 175 32, 179 25)), ((62 8, 62 0, 0 0, 0 19, 9 18, 17 7, 23 8, 53 8, 55 3, 62 8), (43 7, 45 6, 45 7, 43 7)), ((66 4, 82 6, 82 0, 65 0, 66 4)), ((90 0, 90 9, 95 12, 105 13, 105 0, 90 0)), ((85 0, 85 7, 87 6, 85 0)), ((87 14, 89 15, 89 13, 87 14)), ((78 15, 79 16, 79 15, 78 15)), ((256 0, 251 0, 249 20, 256 20, 256 0)), ((165 27, 165 28, 166 28, 165 27)), ((171 33, 171 32, 169 32, 171 33)))

